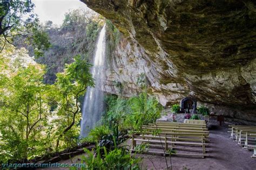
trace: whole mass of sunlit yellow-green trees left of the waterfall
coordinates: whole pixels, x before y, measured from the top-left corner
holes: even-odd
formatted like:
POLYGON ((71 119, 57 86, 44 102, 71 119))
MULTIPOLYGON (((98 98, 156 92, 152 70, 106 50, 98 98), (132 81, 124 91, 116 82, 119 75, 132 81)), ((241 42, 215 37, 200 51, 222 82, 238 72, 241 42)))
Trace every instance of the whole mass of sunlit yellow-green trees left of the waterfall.
POLYGON ((79 102, 93 86, 89 63, 75 57, 55 84, 24 49, 0 54, 0 162, 33 159, 55 147, 76 146, 79 102), (6 67, 9 66, 9 67, 6 67))

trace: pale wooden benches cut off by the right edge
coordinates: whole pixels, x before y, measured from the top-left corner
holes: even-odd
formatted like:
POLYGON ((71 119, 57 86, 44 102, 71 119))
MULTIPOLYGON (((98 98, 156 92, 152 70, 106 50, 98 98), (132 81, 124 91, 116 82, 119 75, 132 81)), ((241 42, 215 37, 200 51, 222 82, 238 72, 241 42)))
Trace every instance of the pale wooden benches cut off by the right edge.
POLYGON ((256 158, 256 126, 229 125, 230 138, 247 150, 253 150, 256 158))

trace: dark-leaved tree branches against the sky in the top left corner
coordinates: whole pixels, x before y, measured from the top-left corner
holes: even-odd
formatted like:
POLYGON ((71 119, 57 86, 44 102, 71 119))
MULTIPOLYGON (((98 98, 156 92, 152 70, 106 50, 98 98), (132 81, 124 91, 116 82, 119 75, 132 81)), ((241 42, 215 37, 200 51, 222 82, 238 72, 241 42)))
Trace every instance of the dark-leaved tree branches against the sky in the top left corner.
POLYGON ((48 35, 42 30, 37 16, 32 12, 34 6, 31 0, 2 0, 0 3, 1 52, 6 44, 21 45, 13 42, 14 38, 19 36, 28 39, 27 42, 35 47, 38 56, 50 47, 48 35))

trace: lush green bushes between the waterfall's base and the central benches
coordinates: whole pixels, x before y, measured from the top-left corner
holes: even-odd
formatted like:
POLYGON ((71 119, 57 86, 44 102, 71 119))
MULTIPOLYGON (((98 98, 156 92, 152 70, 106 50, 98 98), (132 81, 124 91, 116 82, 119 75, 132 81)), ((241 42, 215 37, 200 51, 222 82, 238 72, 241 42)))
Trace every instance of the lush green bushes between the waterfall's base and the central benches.
POLYGON ((156 98, 145 93, 129 99, 110 97, 105 122, 110 126, 118 124, 120 130, 141 130, 142 125, 154 123, 163 109, 156 98))

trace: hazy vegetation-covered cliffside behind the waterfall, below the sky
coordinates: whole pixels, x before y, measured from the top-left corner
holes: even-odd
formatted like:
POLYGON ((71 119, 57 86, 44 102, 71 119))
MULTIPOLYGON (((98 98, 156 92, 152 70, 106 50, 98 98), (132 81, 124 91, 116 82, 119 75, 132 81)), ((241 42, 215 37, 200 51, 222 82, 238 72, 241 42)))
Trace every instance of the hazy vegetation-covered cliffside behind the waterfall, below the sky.
POLYGON ((100 31, 100 19, 96 12, 83 9, 71 10, 66 13, 62 26, 51 26, 51 22, 47 22, 42 29, 49 34, 51 46, 47 50, 43 48, 39 50, 35 46, 29 46, 28 49, 31 56, 35 53, 41 55, 40 52, 44 52, 44 55, 36 58, 36 61, 46 65, 44 78, 46 83, 54 83, 56 73, 62 72, 66 63, 73 62, 73 56, 80 55, 84 60, 92 61, 95 42, 100 31))

